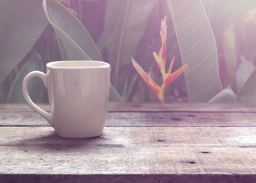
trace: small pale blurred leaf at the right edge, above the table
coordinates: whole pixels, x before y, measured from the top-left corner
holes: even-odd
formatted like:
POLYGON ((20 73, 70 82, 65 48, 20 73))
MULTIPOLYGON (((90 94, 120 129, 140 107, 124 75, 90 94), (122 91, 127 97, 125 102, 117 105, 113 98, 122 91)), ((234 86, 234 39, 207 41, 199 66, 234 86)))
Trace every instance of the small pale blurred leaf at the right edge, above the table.
POLYGON ((250 61, 247 61, 244 56, 240 56, 240 58, 241 63, 236 71, 236 87, 238 91, 256 68, 250 61))

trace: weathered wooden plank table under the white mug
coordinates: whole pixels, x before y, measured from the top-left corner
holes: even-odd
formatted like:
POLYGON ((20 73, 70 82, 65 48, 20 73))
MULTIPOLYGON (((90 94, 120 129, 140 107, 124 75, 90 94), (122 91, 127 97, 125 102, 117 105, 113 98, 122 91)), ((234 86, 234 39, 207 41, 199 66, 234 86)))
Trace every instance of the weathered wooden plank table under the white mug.
POLYGON ((256 105, 108 109, 101 137, 62 139, 28 105, 0 105, 0 183, 256 183, 256 105))

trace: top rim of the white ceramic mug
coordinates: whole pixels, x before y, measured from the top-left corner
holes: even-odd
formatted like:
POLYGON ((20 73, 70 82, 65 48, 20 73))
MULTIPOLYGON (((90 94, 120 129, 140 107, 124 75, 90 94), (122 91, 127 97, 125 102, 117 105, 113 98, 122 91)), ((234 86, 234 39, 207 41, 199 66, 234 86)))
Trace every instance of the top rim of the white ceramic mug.
MULTIPOLYGON (((89 61, 89 60, 88 60, 89 61)), ((52 61, 52 62, 49 62, 46 64, 47 67, 50 67, 52 69, 93 69, 93 68, 108 68, 110 67, 110 64, 108 64, 107 62, 104 62, 104 61, 90 61, 90 62, 94 62, 94 63, 99 63, 99 64, 102 64, 102 65, 99 65, 99 66, 93 66, 93 67, 58 67, 58 66, 54 66, 55 64, 58 64, 58 63, 69 63, 69 62, 88 62, 88 61, 52 61)))

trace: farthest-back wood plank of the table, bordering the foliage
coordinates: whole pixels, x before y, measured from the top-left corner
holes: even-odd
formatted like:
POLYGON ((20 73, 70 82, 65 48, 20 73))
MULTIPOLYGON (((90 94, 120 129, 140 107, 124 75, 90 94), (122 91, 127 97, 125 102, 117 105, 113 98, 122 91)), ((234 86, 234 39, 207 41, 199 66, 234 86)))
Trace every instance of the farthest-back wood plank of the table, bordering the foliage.
MULTIPOLYGON (((39 105, 49 111, 48 105, 39 105)), ((238 112, 256 113, 256 104, 207 104, 207 103, 133 103, 109 102, 109 112, 238 112)), ((33 112, 26 104, 0 104, 0 113, 33 112)))

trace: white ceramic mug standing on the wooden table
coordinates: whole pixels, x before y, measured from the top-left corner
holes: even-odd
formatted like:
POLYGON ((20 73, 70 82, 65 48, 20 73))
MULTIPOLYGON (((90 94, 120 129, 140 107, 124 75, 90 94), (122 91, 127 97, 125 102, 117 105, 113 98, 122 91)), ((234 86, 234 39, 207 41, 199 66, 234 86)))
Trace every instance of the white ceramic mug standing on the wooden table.
POLYGON ((23 80, 23 95, 35 112, 43 116, 63 138, 102 135, 110 87, 110 65, 101 61, 55 61, 47 74, 33 71, 23 80), (48 89, 50 113, 29 97, 29 80, 38 76, 48 89))

